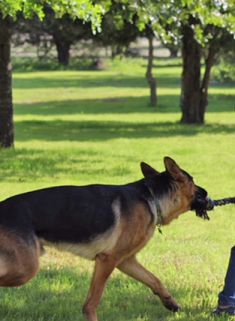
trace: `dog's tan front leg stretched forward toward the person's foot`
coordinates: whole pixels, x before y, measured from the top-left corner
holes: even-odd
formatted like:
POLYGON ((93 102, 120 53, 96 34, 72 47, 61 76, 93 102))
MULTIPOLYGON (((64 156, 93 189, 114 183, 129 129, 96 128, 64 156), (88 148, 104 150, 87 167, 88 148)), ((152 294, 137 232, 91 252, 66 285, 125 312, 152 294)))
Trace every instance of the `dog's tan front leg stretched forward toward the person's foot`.
POLYGON ((160 297, 162 303, 167 309, 174 312, 180 310, 180 306, 170 295, 167 289, 163 286, 161 281, 155 275, 145 269, 137 261, 135 256, 126 259, 120 265, 118 265, 117 268, 125 274, 131 276, 135 280, 147 285, 154 294, 157 294, 160 297))

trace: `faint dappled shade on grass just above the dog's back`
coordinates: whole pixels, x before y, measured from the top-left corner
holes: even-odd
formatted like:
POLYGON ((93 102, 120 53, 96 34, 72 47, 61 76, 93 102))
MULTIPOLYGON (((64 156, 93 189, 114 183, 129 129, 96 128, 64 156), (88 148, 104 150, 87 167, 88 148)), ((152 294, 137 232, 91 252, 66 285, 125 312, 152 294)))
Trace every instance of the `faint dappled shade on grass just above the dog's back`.
MULTIPOLYGON (((123 159, 124 156, 115 156, 116 159, 119 157, 123 159)), ((118 174, 119 169, 113 168, 114 174, 115 170, 118 174)), ((130 174, 127 168, 122 169, 124 170, 126 174, 130 174)), ((53 151, 24 148, 1 150, 0 180, 4 182, 34 182, 50 177, 53 184, 53 179, 58 176, 74 177, 74 175, 79 176, 83 171, 92 172, 93 175, 104 172, 102 161, 97 157, 97 151, 85 147, 80 147, 73 153, 70 150, 66 152, 64 149, 53 151), (101 166, 98 166, 98 163, 101 163, 101 166)))

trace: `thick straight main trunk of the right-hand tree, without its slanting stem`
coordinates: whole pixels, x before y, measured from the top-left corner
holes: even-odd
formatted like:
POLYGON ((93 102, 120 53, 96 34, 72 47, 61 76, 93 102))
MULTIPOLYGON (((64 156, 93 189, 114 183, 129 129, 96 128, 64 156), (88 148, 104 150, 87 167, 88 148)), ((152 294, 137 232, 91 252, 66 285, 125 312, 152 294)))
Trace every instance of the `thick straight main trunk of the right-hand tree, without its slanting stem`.
POLYGON ((182 123, 203 124, 200 112, 201 96, 201 46, 194 38, 190 25, 183 26, 183 73, 181 87, 182 123))

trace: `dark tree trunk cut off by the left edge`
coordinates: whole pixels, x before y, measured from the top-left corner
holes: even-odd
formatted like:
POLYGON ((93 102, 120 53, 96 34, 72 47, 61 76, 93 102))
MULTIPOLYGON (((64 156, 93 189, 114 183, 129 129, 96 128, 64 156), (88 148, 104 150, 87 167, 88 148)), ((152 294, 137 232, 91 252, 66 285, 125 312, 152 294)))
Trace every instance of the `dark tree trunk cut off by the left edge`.
POLYGON ((0 14, 0 146, 14 146, 10 17, 0 14))

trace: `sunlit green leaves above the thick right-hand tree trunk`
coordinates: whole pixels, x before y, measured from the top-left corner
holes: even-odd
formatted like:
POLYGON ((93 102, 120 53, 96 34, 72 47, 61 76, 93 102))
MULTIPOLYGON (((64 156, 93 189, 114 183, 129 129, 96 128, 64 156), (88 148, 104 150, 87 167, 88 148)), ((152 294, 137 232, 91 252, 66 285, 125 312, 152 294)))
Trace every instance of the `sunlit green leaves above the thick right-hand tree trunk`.
POLYGON ((149 18, 145 21, 151 23, 165 42, 175 41, 185 24, 193 29, 195 38, 202 45, 210 38, 208 27, 221 28, 235 36, 234 0, 166 0, 164 3, 147 0, 144 7, 145 11, 142 7, 141 12, 149 18))

